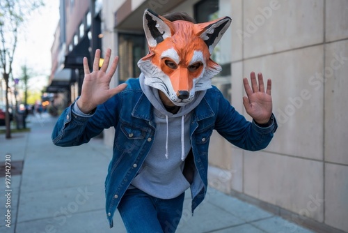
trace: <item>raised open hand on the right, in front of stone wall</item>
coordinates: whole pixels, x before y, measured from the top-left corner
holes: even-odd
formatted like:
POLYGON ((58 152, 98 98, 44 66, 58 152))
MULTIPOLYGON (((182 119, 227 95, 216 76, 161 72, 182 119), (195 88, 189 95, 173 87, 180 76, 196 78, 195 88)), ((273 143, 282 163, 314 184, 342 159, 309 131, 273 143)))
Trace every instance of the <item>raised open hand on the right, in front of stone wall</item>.
POLYGON ((272 114, 271 80, 267 80, 267 89, 264 91, 262 73, 258 73, 258 82, 255 73, 251 72, 251 87, 248 79, 244 77, 243 84, 246 96, 243 97, 243 104, 246 112, 259 124, 267 123, 272 114))

